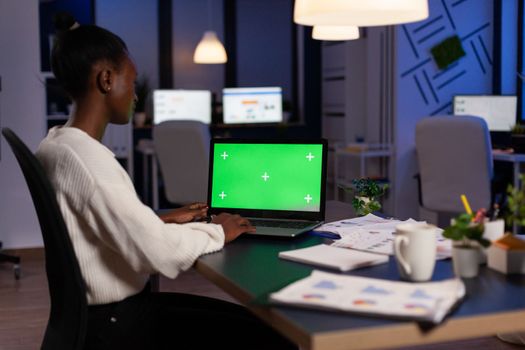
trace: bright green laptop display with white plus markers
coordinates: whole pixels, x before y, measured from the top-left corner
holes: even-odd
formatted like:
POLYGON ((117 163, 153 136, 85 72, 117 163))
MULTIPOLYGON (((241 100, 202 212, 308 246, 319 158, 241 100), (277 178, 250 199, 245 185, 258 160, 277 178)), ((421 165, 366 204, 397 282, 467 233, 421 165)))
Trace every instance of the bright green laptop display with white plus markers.
POLYGON ((211 150, 212 208, 321 210, 322 143, 225 142, 211 150))

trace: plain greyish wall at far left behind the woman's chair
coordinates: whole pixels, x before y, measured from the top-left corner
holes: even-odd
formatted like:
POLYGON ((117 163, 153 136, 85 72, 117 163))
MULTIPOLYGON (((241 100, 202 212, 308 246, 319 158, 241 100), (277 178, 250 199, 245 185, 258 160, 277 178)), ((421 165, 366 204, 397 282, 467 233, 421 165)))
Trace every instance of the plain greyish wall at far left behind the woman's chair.
MULTIPOLYGON (((45 129, 38 32, 38 1, 0 0, 0 126, 13 129, 32 150, 45 129)), ((0 240, 4 246, 42 246, 29 191, 3 137, 0 194, 0 240)))

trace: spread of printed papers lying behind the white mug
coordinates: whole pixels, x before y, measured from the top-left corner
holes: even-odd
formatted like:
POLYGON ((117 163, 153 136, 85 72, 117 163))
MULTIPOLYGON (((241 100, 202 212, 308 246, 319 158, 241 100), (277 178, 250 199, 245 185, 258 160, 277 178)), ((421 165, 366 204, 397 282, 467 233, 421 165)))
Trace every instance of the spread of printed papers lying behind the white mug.
MULTIPOLYGON (((402 223, 416 222, 413 219, 405 221, 384 219, 368 214, 366 216, 340 220, 324 224, 316 231, 338 233, 341 239, 332 243, 335 247, 351 248, 365 252, 394 255, 393 242, 396 226, 402 223)), ((442 235, 439 229, 437 239, 436 259, 446 259, 452 256, 452 243, 442 235)))

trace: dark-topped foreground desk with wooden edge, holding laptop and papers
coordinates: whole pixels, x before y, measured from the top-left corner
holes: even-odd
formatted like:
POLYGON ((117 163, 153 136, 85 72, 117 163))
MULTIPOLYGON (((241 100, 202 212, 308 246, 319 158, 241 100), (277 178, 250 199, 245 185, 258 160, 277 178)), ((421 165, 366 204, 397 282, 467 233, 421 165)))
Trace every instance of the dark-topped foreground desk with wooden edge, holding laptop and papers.
MULTIPOLYGON (((327 221, 348 217, 350 205, 328 201, 327 221)), ((268 293, 306 277, 313 267, 277 254, 323 243, 308 234, 293 239, 244 235, 217 253, 200 257, 195 269, 304 349, 386 348, 525 331, 525 276, 481 268, 465 279, 467 297, 438 327, 415 322, 268 305, 268 293)), ((326 270, 329 271, 329 270, 326 270)), ((399 280, 395 261, 348 274, 399 280)), ((451 261, 438 261, 433 280, 453 277, 451 261)))

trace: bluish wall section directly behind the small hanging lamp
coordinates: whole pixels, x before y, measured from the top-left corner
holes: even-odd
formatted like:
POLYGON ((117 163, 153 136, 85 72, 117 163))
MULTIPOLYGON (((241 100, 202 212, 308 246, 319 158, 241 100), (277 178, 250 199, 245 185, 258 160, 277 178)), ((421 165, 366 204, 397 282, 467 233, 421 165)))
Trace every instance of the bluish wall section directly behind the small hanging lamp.
POLYGON ((195 64, 193 52, 206 30, 214 30, 224 44, 223 1, 173 0, 172 11, 174 87, 211 90, 220 98, 224 64, 195 64))

